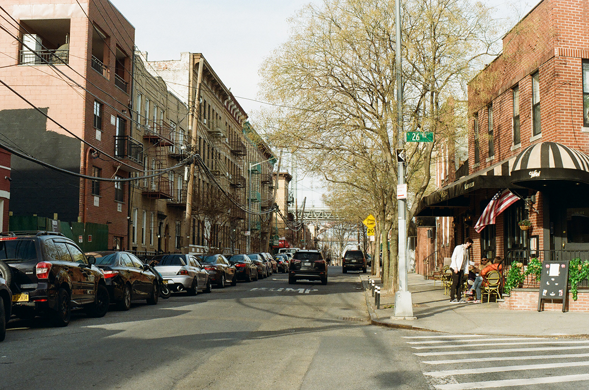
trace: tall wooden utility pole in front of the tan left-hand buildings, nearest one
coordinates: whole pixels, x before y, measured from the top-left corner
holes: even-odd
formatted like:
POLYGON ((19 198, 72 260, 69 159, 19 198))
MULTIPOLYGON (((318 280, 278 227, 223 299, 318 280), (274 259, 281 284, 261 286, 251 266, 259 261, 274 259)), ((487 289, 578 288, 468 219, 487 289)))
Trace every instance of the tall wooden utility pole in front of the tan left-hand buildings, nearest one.
MULTIPOLYGON (((191 60, 194 64, 194 55, 191 60)), ((204 58, 200 56, 198 60, 198 76, 196 81, 196 96, 192 101, 190 109, 190 153, 192 157, 196 155, 196 140, 198 139, 198 121, 200 121, 200 82, 203 78, 203 63, 204 58)), ((193 85, 193 67, 190 67, 190 79, 188 80, 188 92, 190 93, 193 85)), ((191 95, 191 94, 190 94, 191 95)), ((196 159, 190 164, 190 172, 188 173, 188 184, 186 185, 186 218, 184 218, 184 225, 186 226, 187 235, 190 235, 190 222, 192 220, 192 198, 194 192, 194 169, 196 167, 196 159)))

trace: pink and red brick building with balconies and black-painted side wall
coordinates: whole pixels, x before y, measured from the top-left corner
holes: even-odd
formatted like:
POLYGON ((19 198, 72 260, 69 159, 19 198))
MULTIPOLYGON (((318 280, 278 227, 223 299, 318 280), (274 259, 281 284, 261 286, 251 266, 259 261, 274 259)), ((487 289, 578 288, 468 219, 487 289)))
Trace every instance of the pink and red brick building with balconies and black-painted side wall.
MULTIPOLYGON (((142 170, 129 134, 135 31, 127 19, 107 0, 0 5, 10 21, 0 37, 0 79, 30 102, 0 88, 8 146, 85 175, 125 179, 142 170)), ((12 169, 14 215, 108 224, 108 246, 125 248, 126 183, 95 186, 14 155, 12 169)))

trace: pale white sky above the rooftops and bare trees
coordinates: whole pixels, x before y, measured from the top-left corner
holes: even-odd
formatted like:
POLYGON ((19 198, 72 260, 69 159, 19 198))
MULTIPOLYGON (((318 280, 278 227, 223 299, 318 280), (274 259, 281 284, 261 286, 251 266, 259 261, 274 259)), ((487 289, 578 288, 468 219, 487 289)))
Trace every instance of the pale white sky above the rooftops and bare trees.
MULTIPOLYGON (((412 0, 419 1, 419 0, 412 0)), ((487 0, 497 18, 511 24, 540 0, 487 0)), ((255 119, 260 109, 258 70, 264 59, 289 38, 296 11, 322 0, 111 0, 135 27, 135 45, 148 60, 180 59, 181 52, 202 53, 239 104, 255 119)), ((281 169, 282 171, 282 169, 281 169)), ((299 173, 299 204, 323 206, 325 184, 299 173)))

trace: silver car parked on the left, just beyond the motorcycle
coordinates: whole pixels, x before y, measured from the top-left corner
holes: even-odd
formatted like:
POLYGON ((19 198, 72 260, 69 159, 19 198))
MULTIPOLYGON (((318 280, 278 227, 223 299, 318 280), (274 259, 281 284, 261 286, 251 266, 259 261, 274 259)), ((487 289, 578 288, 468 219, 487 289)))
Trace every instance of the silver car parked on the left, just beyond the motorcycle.
POLYGON ((211 275, 193 255, 155 255, 151 264, 167 281, 170 291, 186 291, 188 295, 196 295, 199 291, 211 292, 211 275))

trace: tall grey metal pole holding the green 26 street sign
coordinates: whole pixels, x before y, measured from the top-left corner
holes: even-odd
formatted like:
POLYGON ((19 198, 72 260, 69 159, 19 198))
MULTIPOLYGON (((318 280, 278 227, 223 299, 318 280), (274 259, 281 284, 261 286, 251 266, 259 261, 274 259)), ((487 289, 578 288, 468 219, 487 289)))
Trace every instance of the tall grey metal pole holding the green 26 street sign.
MULTIPOLYGON (((396 84, 397 84, 397 148, 405 148, 405 141, 403 136, 403 84, 401 73, 401 0, 395 2, 395 27, 396 27, 396 84)), ((399 188, 405 184, 405 163, 398 162, 397 164, 398 186, 399 188)), ((406 191, 405 191, 406 192, 406 191)), ((395 317, 413 317, 413 303, 411 299, 411 292, 409 292, 408 278, 407 278, 407 199, 399 199, 397 201, 397 210, 399 213, 399 291, 395 294, 395 317)))

